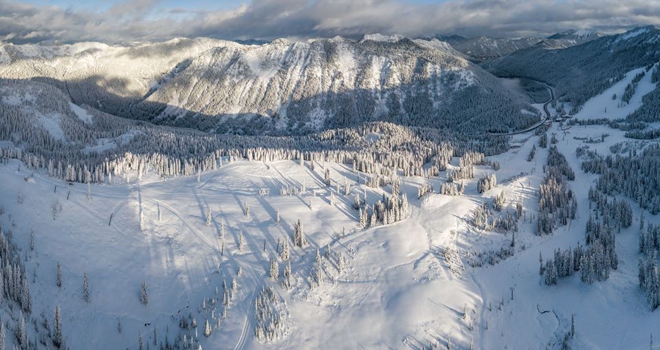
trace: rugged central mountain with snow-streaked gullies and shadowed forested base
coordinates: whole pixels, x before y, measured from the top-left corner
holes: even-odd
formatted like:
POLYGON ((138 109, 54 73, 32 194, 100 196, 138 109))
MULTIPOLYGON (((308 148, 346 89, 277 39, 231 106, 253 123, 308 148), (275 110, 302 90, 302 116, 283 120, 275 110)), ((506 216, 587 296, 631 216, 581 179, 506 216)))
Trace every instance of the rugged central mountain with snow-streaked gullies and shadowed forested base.
POLYGON ((522 113, 531 109, 450 45, 381 35, 358 42, 217 47, 136 108, 159 122, 212 119, 219 131, 239 133, 318 130, 369 120, 506 130, 538 119, 522 113), (503 111, 516 118, 500 118, 503 111), (252 121, 252 130, 245 129, 245 120, 252 121))

